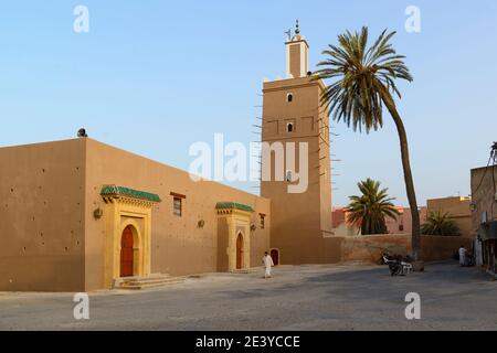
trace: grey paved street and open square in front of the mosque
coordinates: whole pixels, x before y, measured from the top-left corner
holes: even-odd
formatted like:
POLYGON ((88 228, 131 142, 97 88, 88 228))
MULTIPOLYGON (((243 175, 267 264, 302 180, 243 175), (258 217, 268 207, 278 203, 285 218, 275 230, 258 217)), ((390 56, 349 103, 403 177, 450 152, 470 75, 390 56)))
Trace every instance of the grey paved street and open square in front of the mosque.
POLYGON ((271 280, 210 274, 138 292, 0 293, 0 330, 497 330, 497 281, 455 263, 391 278, 380 266, 283 266, 271 280), (408 292, 422 319, 404 317, 408 292))

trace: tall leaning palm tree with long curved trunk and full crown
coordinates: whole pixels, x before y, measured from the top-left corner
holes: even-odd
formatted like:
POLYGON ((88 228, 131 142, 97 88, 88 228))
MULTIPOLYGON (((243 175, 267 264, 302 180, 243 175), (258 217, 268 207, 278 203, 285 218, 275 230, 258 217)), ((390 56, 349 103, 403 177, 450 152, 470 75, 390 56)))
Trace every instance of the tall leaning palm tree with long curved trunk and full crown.
POLYGON ((409 68, 389 43, 395 34, 381 33, 374 44, 368 46, 368 29, 338 36, 339 45, 329 45, 322 54, 328 57, 318 64, 324 68, 315 73, 315 79, 336 79, 321 95, 321 105, 337 121, 343 120, 355 130, 369 133, 383 126, 383 105, 396 126, 402 154, 405 189, 412 214, 412 249, 414 260, 420 259, 420 214, 409 159, 408 136, 396 110, 393 96, 401 98, 395 79, 412 82, 409 68))

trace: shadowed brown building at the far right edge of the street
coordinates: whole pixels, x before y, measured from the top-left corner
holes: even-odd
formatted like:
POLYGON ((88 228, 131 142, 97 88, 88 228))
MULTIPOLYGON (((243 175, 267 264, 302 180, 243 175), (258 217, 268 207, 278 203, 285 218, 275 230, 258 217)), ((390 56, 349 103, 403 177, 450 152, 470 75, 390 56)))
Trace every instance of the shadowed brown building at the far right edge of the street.
POLYGON ((497 165, 472 170, 472 232, 477 265, 497 274, 497 165))

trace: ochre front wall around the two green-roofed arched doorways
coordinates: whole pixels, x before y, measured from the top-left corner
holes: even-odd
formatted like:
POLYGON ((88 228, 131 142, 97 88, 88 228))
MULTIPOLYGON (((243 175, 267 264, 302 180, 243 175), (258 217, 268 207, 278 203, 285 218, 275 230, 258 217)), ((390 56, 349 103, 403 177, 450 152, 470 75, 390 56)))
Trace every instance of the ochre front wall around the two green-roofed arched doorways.
MULTIPOLYGON (((86 139, 86 288, 102 288, 105 222, 95 220, 93 211, 104 207, 99 191, 104 184, 123 185, 152 192, 162 199, 154 206, 151 227, 151 272, 187 275, 216 271, 224 266, 225 250, 218 244, 216 202, 234 201, 251 205, 251 265, 260 266, 269 249, 269 201, 214 182, 193 182, 181 170, 86 139), (172 213, 170 193, 186 195, 182 217, 172 213), (261 229, 258 214, 266 214, 261 229), (198 222, 204 220, 203 228, 198 222)), ((222 231, 223 233, 224 231, 222 231)), ((224 246, 224 245, 222 245, 224 246)), ((228 259, 226 259, 228 260, 228 259)))

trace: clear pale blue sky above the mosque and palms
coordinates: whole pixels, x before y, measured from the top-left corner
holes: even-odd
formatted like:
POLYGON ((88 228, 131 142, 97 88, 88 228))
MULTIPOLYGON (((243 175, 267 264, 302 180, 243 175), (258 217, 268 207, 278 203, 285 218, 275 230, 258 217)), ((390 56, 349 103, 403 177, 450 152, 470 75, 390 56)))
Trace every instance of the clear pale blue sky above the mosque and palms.
MULTIPOLYGON (((10 1, 0 11, 0 146, 89 137, 188 170, 189 148, 256 139, 262 83, 285 75, 285 34, 299 19, 309 69, 346 30, 398 31, 414 82, 401 84, 419 204, 469 194, 469 170, 497 140, 497 1, 10 1), (76 6, 89 31, 76 33, 76 6), (408 33, 405 9, 420 9, 408 33)), ((406 205, 390 116, 369 135, 332 122, 334 205, 368 176, 406 205)), ((8 165, 0 165, 8 168, 8 165)), ((254 183, 229 183, 258 193, 254 183)))

